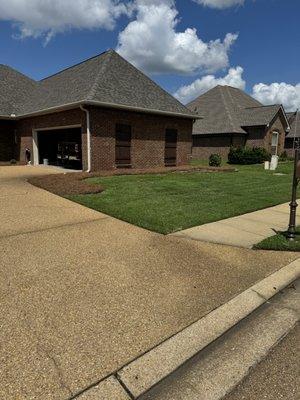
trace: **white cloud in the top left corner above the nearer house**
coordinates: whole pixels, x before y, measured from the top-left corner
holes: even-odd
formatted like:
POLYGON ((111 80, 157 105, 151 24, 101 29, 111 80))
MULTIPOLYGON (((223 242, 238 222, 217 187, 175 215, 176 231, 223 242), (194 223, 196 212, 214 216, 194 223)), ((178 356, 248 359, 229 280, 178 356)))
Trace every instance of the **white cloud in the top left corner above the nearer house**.
POLYGON ((129 3, 119 0, 0 0, 0 20, 14 22, 19 37, 46 41, 70 28, 113 29, 128 13, 129 3))

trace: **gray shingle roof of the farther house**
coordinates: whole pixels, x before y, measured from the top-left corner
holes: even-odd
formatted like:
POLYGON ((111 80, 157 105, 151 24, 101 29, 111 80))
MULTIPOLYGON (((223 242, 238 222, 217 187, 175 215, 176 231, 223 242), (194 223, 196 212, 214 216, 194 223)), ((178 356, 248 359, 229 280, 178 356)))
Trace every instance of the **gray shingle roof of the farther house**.
POLYGON ((281 105, 263 106, 240 89, 216 86, 188 104, 203 119, 194 124, 194 134, 246 133, 245 127, 268 125, 281 105))

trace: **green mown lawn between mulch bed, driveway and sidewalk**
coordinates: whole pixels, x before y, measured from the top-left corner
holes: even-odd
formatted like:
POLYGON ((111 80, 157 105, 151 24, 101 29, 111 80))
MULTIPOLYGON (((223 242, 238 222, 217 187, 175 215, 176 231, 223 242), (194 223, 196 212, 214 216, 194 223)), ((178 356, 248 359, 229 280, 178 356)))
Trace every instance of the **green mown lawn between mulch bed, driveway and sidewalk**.
POLYGON ((279 175, 261 165, 238 169, 90 178, 105 191, 69 198, 164 234, 290 200, 292 163, 281 164, 279 175))

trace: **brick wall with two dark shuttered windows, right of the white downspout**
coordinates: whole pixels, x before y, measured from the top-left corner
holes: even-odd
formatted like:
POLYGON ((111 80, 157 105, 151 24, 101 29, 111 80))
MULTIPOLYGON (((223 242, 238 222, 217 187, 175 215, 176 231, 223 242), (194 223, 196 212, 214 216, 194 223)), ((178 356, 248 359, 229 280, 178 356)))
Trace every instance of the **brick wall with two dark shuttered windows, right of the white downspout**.
POLYGON ((164 166, 165 131, 177 129, 177 165, 187 164, 191 155, 192 120, 91 107, 92 169, 114 169, 116 124, 132 129, 132 168, 164 166))

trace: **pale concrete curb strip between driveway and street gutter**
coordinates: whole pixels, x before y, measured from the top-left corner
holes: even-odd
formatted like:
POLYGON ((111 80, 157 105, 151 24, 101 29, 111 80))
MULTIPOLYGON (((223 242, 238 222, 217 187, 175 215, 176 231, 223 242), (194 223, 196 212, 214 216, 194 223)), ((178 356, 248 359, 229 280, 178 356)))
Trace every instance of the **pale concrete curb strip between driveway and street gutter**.
POLYGON ((114 398, 137 399, 299 277, 300 258, 130 362, 114 375, 126 397, 114 398))

